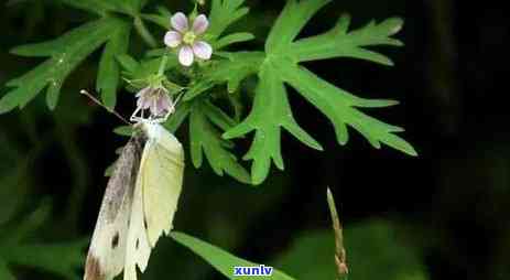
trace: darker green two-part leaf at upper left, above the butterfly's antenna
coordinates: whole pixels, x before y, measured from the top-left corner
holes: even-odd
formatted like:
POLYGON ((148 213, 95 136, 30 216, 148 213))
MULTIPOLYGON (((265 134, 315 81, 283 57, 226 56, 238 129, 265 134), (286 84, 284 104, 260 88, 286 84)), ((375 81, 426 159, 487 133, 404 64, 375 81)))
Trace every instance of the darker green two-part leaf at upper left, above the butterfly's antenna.
POLYGON ((105 18, 86 23, 50 42, 14 47, 12 53, 18 55, 51 58, 7 83, 7 86, 13 89, 0 100, 0 112, 15 107, 23 108, 44 88, 47 88, 46 104, 54 109, 66 77, 104 43, 107 43, 107 46, 99 66, 97 85, 98 89, 104 89, 101 93, 105 104, 112 107, 119 79, 113 54, 120 52, 120 49, 126 49, 127 32, 129 25, 122 20, 105 18))

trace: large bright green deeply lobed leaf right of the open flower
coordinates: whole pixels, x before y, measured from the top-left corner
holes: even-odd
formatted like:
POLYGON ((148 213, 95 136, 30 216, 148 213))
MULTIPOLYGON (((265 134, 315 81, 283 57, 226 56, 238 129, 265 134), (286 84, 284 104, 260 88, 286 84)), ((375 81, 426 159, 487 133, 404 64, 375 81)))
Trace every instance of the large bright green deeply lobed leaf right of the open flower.
MULTIPOLYGON (((300 65, 301 62, 333 57, 354 57, 392 65, 390 58, 365 47, 402 45, 399 40, 391 37, 402 28, 402 20, 393 18, 379 24, 371 22, 348 32, 350 19, 347 15, 341 17, 329 32, 295 41, 312 17, 328 2, 330 1, 286 2, 265 42, 264 57, 258 64, 259 84, 252 109, 241 123, 224 134, 226 139, 232 139, 254 131, 251 147, 245 155, 246 160, 252 160, 251 176, 254 184, 265 180, 271 162, 283 170, 280 141, 282 128, 308 147, 322 150, 321 144, 292 117, 285 85, 295 88, 332 121, 340 144, 348 141, 349 126, 377 149, 384 143, 406 154, 417 154, 410 143, 395 134, 402 132, 402 128, 384 123, 359 110, 389 107, 397 105, 397 101, 357 97, 300 65)), ((231 73, 225 74, 224 79, 236 80, 232 78, 235 76, 231 73)))

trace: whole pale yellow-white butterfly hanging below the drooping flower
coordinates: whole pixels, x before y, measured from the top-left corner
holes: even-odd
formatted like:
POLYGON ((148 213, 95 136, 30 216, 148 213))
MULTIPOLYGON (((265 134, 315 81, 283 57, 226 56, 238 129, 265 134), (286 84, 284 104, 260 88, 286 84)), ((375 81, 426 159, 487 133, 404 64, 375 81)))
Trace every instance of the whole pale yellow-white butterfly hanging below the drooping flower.
MULTIPOLYGON (((166 119, 165 116, 164 119, 166 119)), ((183 184, 184 151, 154 119, 133 118, 133 133, 108 181, 84 280, 137 280, 152 248, 173 228, 183 184)))

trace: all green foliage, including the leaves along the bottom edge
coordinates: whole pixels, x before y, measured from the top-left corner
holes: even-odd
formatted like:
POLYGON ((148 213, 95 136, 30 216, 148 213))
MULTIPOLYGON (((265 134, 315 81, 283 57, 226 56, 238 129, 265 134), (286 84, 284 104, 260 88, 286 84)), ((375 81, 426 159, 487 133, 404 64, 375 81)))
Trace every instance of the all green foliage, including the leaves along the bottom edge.
MULTIPOLYGON (((153 35, 169 30, 172 12, 167 8, 148 4, 148 0, 58 1, 87 12, 89 21, 55 40, 11 50, 15 55, 44 57, 45 61, 7 82, 8 90, 0 99, 0 114, 24 108, 41 93, 45 93, 46 105, 54 110, 63 99, 61 91, 64 91, 64 84, 70 79, 70 74, 99 51, 95 88, 110 110, 116 108, 122 87, 132 94, 161 75, 164 77, 163 85, 172 89, 172 94, 178 95, 184 89, 176 112, 164 126, 175 132, 187 123, 191 161, 197 169, 203 166, 205 158, 216 174, 228 174, 239 182, 257 185, 264 182, 273 163, 278 169, 284 169, 281 147, 283 132, 291 133, 312 149, 323 150, 322 144, 297 123, 294 117, 297 110, 289 101, 289 95, 294 94, 313 105, 332 122, 339 144, 348 142, 350 127, 377 149, 386 144, 409 155, 416 155, 413 147, 398 134, 403 131, 402 128, 363 112, 363 109, 394 106, 397 101, 358 97, 303 66, 306 62, 340 57, 391 66, 393 63, 389 57, 370 47, 401 46, 402 43, 392 37, 403 25, 401 19, 391 18, 379 23, 372 21, 365 26, 351 29, 349 15, 341 15, 329 31, 299 37, 311 19, 330 0, 287 0, 264 41, 263 50, 232 51, 232 44, 254 39, 253 34, 246 31, 230 32, 232 24, 246 17, 249 9, 245 0, 213 0, 208 14, 210 26, 204 36, 214 47, 213 60, 200 61, 187 68, 178 64, 173 50, 162 47, 162 40, 155 40, 153 35), (138 36, 132 35, 133 31, 138 36), (140 51, 137 39, 141 39, 148 47, 140 51), (253 80, 254 86, 250 86, 249 82, 253 80), (251 139, 251 143, 242 159, 251 161, 250 172, 239 162, 235 149, 237 143, 246 139, 251 139)), ((196 12, 192 15, 196 15, 196 12)), ((78 93, 79 88, 73 90, 78 93)), ((115 131, 131 134, 130 127, 120 127, 115 131)), ((72 147, 68 149, 73 150, 72 147)), ((75 169, 79 170, 80 164, 78 159, 75 169)), ((84 174, 80 176, 86 177, 84 174)), ((7 234, 0 239, 0 278, 13 279, 8 269, 11 263, 41 268, 68 279, 76 278, 74 269, 82 265, 83 241, 47 245, 26 238, 46 219, 47 213, 47 205, 43 205, 24 223, 1 224, 4 227, 1 233, 7 234), (51 261, 48 256, 56 256, 63 261, 51 261)), ((9 215, 8 218, 12 217, 9 215)), ((386 235, 386 225, 363 228, 359 236, 362 233, 386 235)), ((172 237, 227 277, 231 276, 234 263, 253 265, 184 234, 175 233, 172 237)), ((387 237, 379 241, 388 243, 387 237)), ((362 246, 355 251, 370 255, 362 246)), ((401 256, 395 258, 406 257, 408 252, 400 252, 401 256)), ((352 259, 358 261, 356 257, 352 259)), ((377 259, 373 261, 379 263, 377 259)), ((354 270, 357 269, 356 263, 351 266, 354 270)), ((384 261, 380 263, 392 265, 384 261)), ((301 268, 308 266, 301 265, 301 268)), ((329 268, 333 269, 334 265, 329 268)), ((371 270, 367 269, 367 263, 359 268, 362 268, 361 271, 371 270)), ((383 266, 379 269, 383 270, 383 266)), ((313 270, 300 271, 300 267, 289 271, 296 276, 303 274, 303 279, 313 273, 313 270)), ((328 269, 322 271, 327 273, 328 269)), ((392 279, 406 279, 398 273, 389 276, 394 277, 392 279)), ((416 279, 424 279, 421 273, 417 276, 416 279)), ((359 278, 368 279, 368 276, 359 278)), ((272 279, 292 278, 278 272, 272 279)))

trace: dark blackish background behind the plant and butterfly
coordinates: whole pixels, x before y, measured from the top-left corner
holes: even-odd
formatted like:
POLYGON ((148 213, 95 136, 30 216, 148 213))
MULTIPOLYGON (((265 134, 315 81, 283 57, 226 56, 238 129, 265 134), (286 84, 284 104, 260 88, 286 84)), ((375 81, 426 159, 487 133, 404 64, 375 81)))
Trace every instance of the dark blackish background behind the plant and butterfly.
MULTIPOLYGON (((37 63, 36 58, 10 55, 9 49, 55 37, 87 19, 82 12, 51 1, 1 6, 2 84, 37 63)), ((252 13, 237 28, 252 31, 258 37, 243 47, 261 49, 283 1, 248 1, 248 6, 252 13)), ((172 1, 169 7, 191 6, 172 1)), ((420 157, 410 158, 386 147, 375 150, 355 131, 349 143, 339 147, 327 119, 291 94, 297 122, 323 143, 325 152, 310 150, 285 134, 285 171, 273 170, 258 187, 218 177, 207 164, 195 170, 188 162, 176 229, 243 258, 278 263, 279 256, 292 252, 302 233, 329 229, 325 190, 330 186, 347 230, 371 220, 391 224, 392 238, 412 248, 410 251, 427 274, 425 279, 508 279, 510 137, 503 84, 509 65, 506 10, 497 1, 344 0, 322 10, 303 35, 327 30, 341 12, 352 15, 354 26, 370 19, 404 18, 405 26, 398 37, 405 46, 378 49, 389 54, 395 66, 352 60, 306 66, 361 97, 400 100, 400 106, 370 114, 404 127, 403 137, 420 157)), ((113 116, 78 95, 78 89, 94 87, 97 61, 95 55, 70 76, 54 112, 44 107, 44 98, 40 97, 23 111, 0 116, 0 175, 12 176, 14 166, 23 169, 28 181, 23 181, 24 191, 19 190, 21 184, 10 190, 0 181, 0 203, 8 202, 3 203, 8 209, 14 200, 9 197, 11 193, 20 193, 15 200, 20 211, 14 213, 30 213, 42 197, 50 198, 52 215, 40 236, 44 240, 91 234, 107 182, 104 171, 115 160, 115 149, 126 140, 111 133, 120 125, 113 116)), ((132 97, 126 93, 120 96, 118 109, 128 115, 132 97)), ((186 126, 177 137, 187 147, 186 126)), ((14 217, 23 219, 23 214, 14 217)), ((370 238, 370 231, 365 234, 370 238)), ((347 245, 349 238, 359 237, 347 235, 347 245)), ((171 241, 163 241, 163 249, 156 250, 142 279, 166 279, 161 277, 169 269, 180 269, 166 273, 175 274, 175 279, 221 279, 205 262, 174 247, 171 241), (177 262, 175 255, 180 256, 177 262), (175 265, 181 262, 187 265, 175 265)), ((349 255, 349 246, 347 249, 349 255)), ((394 248, 381 245, 380 249, 394 248)), ((370 260, 372 255, 365 257, 370 260)), ((319 266, 318 256, 301 258, 310 269, 319 266)), ((394 266, 404 266, 401 257, 389 258, 394 266)), ((326 259, 330 260, 329 256, 326 259)), ((350 279, 360 279, 356 268, 351 268, 350 279)), ((15 269, 21 277, 39 273, 15 269)), ((287 272, 300 278, 299 273, 287 272)), ((375 269, 373 279, 384 279, 384 274, 388 273, 382 266, 382 270, 375 269)))

